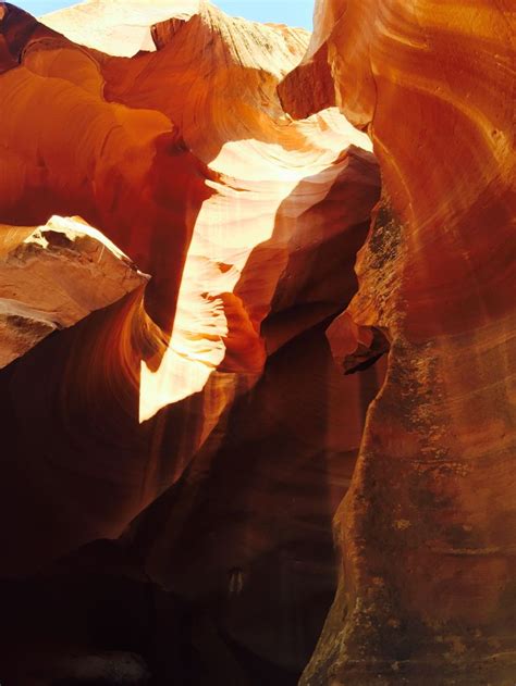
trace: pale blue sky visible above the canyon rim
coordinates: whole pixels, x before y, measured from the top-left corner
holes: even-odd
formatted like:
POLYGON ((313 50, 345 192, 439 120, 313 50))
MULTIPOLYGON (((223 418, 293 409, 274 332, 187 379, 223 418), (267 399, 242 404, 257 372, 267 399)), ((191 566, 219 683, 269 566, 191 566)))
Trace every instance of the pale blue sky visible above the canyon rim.
MULTIPOLYGON (((212 0, 228 14, 245 16, 258 22, 278 22, 311 29, 314 0, 212 0)), ((30 14, 45 14, 75 4, 72 0, 11 0, 30 14)), ((173 0, 171 0, 173 4, 173 0)))

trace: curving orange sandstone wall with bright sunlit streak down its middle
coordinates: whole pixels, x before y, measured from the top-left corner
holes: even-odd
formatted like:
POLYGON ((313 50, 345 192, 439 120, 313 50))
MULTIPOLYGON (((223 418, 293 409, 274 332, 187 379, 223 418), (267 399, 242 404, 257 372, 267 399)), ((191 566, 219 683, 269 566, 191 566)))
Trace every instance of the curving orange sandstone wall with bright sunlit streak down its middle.
MULTIPOLYGON (((151 275, 143 298, 0 375, 13 456, 0 508, 19 522, 1 532, 5 574, 116 538, 199 456, 217 463, 231 409, 267 358, 349 301, 379 196, 367 136, 335 109, 303 122, 283 112, 277 86, 306 32, 206 3, 168 20, 161 4, 134 4, 156 50, 142 52, 139 28, 133 42, 121 22, 112 54, 99 51, 122 3, 48 20, 81 46, 3 5, 0 220, 81 215, 151 275)), ((342 429, 352 452, 355 384, 353 435, 342 429)))

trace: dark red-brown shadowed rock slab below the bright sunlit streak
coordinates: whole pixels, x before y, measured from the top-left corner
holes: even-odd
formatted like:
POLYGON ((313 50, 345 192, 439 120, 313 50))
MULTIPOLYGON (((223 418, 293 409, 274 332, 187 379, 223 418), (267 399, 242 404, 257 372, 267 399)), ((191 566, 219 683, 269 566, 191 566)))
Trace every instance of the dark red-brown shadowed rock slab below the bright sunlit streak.
POLYGON ((305 666, 331 602, 331 520, 383 372, 340 374, 324 325, 297 336, 234 404, 217 451, 202 450, 123 539, 162 588, 285 670, 280 684, 305 666))

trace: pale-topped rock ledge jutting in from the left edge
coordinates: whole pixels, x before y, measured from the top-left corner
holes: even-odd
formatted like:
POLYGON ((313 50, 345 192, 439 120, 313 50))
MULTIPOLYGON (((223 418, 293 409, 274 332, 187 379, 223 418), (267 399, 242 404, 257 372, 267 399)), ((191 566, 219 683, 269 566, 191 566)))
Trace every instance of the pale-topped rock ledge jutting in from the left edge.
POLYGON ((146 283, 84 222, 53 216, 37 228, 0 225, 0 367, 146 283))

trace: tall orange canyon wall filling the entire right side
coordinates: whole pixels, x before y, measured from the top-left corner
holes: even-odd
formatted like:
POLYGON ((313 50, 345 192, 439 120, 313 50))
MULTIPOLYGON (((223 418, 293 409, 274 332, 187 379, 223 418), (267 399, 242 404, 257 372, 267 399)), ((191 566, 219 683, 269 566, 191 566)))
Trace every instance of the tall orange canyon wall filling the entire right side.
MULTIPOLYGON (((340 588, 304 684, 509 684, 516 674, 514 54, 507 3, 321 1, 336 102, 382 198, 359 289, 329 329, 345 369, 390 342, 335 520, 340 588)), ((306 67, 303 67, 306 68, 306 67)), ((280 87, 305 114, 309 84, 280 87)))

